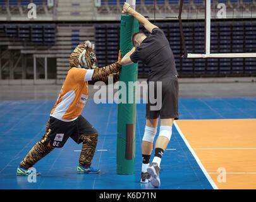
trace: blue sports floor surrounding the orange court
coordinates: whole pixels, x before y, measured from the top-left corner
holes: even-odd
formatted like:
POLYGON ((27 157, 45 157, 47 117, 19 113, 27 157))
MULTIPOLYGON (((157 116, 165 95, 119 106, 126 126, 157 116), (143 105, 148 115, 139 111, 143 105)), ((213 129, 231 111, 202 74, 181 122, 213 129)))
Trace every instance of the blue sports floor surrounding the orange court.
MULTIPOLYGON (((92 166, 101 174, 78 175, 79 150, 68 140, 35 164, 37 182, 15 175, 27 152, 44 135, 55 100, 0 102, 0 189, 153 189, 140 184, 141 144, 145 128, 145 105, 137 105, 135 174, 116 174, 116 104, 88 100, 82 115, 99 132, 92 166)), ((256 98, 180 98, 180 119, 255 119, 256 98)), ((161 162, 160 189, 212 189, 210 182, 175 126, 161 162)), ((153 153, 154 154, 154 153, 153 153)), ((152 158, 151 158, 152 160, 152 158)))

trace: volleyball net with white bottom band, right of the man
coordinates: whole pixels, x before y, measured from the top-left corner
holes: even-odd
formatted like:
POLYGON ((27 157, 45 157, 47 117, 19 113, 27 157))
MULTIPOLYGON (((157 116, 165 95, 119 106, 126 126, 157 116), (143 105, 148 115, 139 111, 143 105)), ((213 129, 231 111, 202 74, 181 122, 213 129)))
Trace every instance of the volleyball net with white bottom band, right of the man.
POLYGON ((185 58, 256 57, 254 0, 180 0, 178 19, 185 58))

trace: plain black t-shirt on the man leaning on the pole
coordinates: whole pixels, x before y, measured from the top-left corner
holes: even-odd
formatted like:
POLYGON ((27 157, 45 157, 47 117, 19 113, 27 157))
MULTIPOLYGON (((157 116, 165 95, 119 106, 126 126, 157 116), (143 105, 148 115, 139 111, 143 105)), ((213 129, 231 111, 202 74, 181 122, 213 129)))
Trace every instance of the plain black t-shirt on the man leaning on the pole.
POLYGON ((142 61, 150 68, 148 81, 178 76, 173 51, 159 28, 152 29, 152 33, 135 49, 130 59, 134 63, 142 61))

